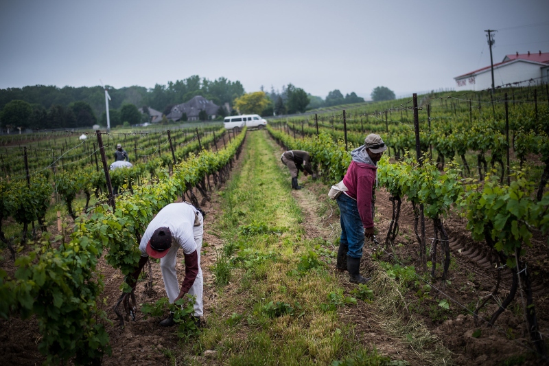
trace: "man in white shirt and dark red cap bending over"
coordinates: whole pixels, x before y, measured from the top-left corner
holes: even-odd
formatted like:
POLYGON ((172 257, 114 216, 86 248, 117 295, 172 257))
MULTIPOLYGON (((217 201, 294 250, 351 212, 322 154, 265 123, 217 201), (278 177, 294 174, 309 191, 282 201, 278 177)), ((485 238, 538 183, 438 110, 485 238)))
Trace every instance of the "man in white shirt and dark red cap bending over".
MULTIPOLYGON (((170 304, 189 295, 196 296, 194 316, 198 326, 200 317, 204 314, 202 308, 202 268, 200 268, 200 249, 204 223, 198 209, 188 203, 171 203, 167 205, 149 223, 139 249, 141 260, 139 267, 128 278, 128 284, 135 288, 141 268, 145 266, 148 256, 160 259, 160 268, 164 279, 164 287, 170 304), (185 278, 179 288, 176 273, 176 254, 183 249, 185 257, 185 278)), ((160 322, 161 326, 174 325, 173 314, 160 322)))

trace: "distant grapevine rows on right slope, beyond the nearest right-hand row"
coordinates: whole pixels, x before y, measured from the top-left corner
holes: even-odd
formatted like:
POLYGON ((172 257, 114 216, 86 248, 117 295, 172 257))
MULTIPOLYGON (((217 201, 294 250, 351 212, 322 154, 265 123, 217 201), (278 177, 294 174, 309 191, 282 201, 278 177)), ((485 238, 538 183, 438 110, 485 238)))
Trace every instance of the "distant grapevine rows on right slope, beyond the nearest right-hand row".
MULTIPOLYGON (((498 99, 493 100, 493 106, 491 95, 482 92, 457 95, 457 98, 425 96, 420 121, 421 150, 434 150, 440 168, 443 168, 445 161, 458 158, 462 164, 463 174, 477 176, 481 181, 490 170, 488 162, 491 163, 491 168, 500 169, 499 175, 503 181, 506 175, 505 157, 508 148, 513 150, 518 159, 511 161, 511 170, 521 169, 528 156, 541 156, 541 161, 545 165, 543 172, 537 168, 535 161, 530 163, 530 171, 527 172, 530 179, 537 180, 540 175, 542 177, 538 185, 539 198, 549 180, 549 150, 546 148, 549 146, 549 108, 546 103, 528 100, 536 90, 512 89, 506 90, 507 94, 500 91, 498 99), (513 100, 508 100, 510 95, 513 95, 513 100), (485 102, 481 102, 481 96, 485 102), (441 102, 440 106, 437 99, 441 102), (448 101, 451 104, 450 110, 445 108, 448 101), (509 121, 509 144, 506 141, 506 120, 509 121)), ((544 90, 537 91, 540 95, 544 90)), ((390 146, 390 152, 398 158, 403 157, 407 150, 414 150, 415 139, 412 120, 403 115, 403 111, 408 115, 410 106, 406 102, 395 104, 398 104, 398 101, 353 108, 347 111, 346 123, 343 123, 341 114, 324 114, 318 115, 315 119, 294 117, 275 120, 273 124, 279 129, 286 128, 289 133, 292 130, 292 135, 297 137, 316 135, 323 131, 332 135, 334 139, 345 139, 355 146, 362 144, 366 131, 378 133, 390 146), (379 111, 377 108, 380 107, 386 109, 379 111), (397 120, 391 117, 391 114, 394 116, 395 113, 397 120)))

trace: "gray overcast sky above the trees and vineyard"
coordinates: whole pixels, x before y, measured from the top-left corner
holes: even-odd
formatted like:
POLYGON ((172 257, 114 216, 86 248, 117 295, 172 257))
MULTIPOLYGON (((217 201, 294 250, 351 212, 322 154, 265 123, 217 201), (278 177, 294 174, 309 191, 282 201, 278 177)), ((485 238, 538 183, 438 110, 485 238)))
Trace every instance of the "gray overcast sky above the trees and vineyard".
POLYGON ((489 28, 500 30, 494 62, 549 52, 548 14, 547 0, 0 0, 0 88, 150 88, 199 75, 246 92, 292 82, 323 98, 369 98, 379 85, 402 95, 489 65, 489 28))

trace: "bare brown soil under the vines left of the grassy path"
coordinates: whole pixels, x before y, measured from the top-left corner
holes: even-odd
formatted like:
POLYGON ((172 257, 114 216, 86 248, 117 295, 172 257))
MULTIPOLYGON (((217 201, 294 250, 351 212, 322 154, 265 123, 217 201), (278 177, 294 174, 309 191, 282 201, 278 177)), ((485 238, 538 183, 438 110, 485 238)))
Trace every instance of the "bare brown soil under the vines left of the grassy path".
MULTIPOLYGON (((231 133, 232 138, 232 133, 231 133)), ((229 137, 225 136, 226 144, 229 143, 229 137)), ((246 141, 244 141, 246 144, 246 141)), ((217 141, 217 148, 223 148, 223 140, 217 141)), ((214 148, 215 149, 215 148, 214 148)), ((241 159, 233 163, 233 170, 238 168, 241 159)), ((213 180, 210 180, 213 187, 213 180)), ((215 219, 214 213, 220 213, 220 200, 217 193, 211 194, 211 201, 203 199, 198 190, 194 190, 199 202, 204 202, 201 208, 206 212, 204 220, 204 236, 202 241, 202 254, 200 266, 204 277, 203 302, 205 304, 205 319, 211 306, 215 304, 215 293, 213 291, 213 276, 209 268, 215 262, 215 249, 222 246, 221 240, 211 231, 212 222, 215 219)), ((178 202, 181 198, 178 198, 178 202)), ((71 219, 67 218, 71 223, 71 219)), ((59 232, 57 226, 48 227, 48 231, 56 236, 59 232)), ((69 237, 67 236, 67 240, 69 237)), ((27 250, 28 251, 28 250, 27 250)), ((23 251, 25 253, 25 251, 23 251)), ((14 273, 13 262, 10 259, 8 249, 1 253, 4 258, 0 262, 1 268, 8 272, 8 275, 14 273)), ((160 262, 151 262, 153 288, 152 294, 145 294, 145 283, 139 282, 135 290, 137 304, 154 303, 161 297, 166 297, 164 282, 162 279, 160 262)), ((145 270, 148 267, 145 265, 145 270)), ((102 296, 106 299, 106 305, 103 310, 106 311, 108 319, 112 323, 104 323, 110 337, 112 355, 105 356, 103 365, 171 365, 172 361, 168 354, 174 358, 180 358, 182 355, 178 351, 178 336, 175 334, 175 328, 162 328, 158 325, 161 318, 143 319, 143 314, 138 310, 136 321, 124 322, 124 328, 121 328, 113 306, 117 303, 121 295, 120 286, 124 276, 120 271, 106 264, 104 258, 101 258, 97 264, 97 270, 104 275, 105 288, 102 296)), ((176 271, 179 276, 185 273, 183 265, 183 255, 178 255, 176 271)), ((98 306, 101 306, 98 304, 98 306)), ((119 307, 124 313, 124 307, 119 307)), ((167 315, 167 314, 166 314, 167 315)), ((45 357, 38 352, 38 343, 40 343, 40 333, 38 332, 38 321, 35 317, 21 320, 18 317, 12 317, 8 320, 0 319, 0 364, 1 365, 41 365, 45 357)))

